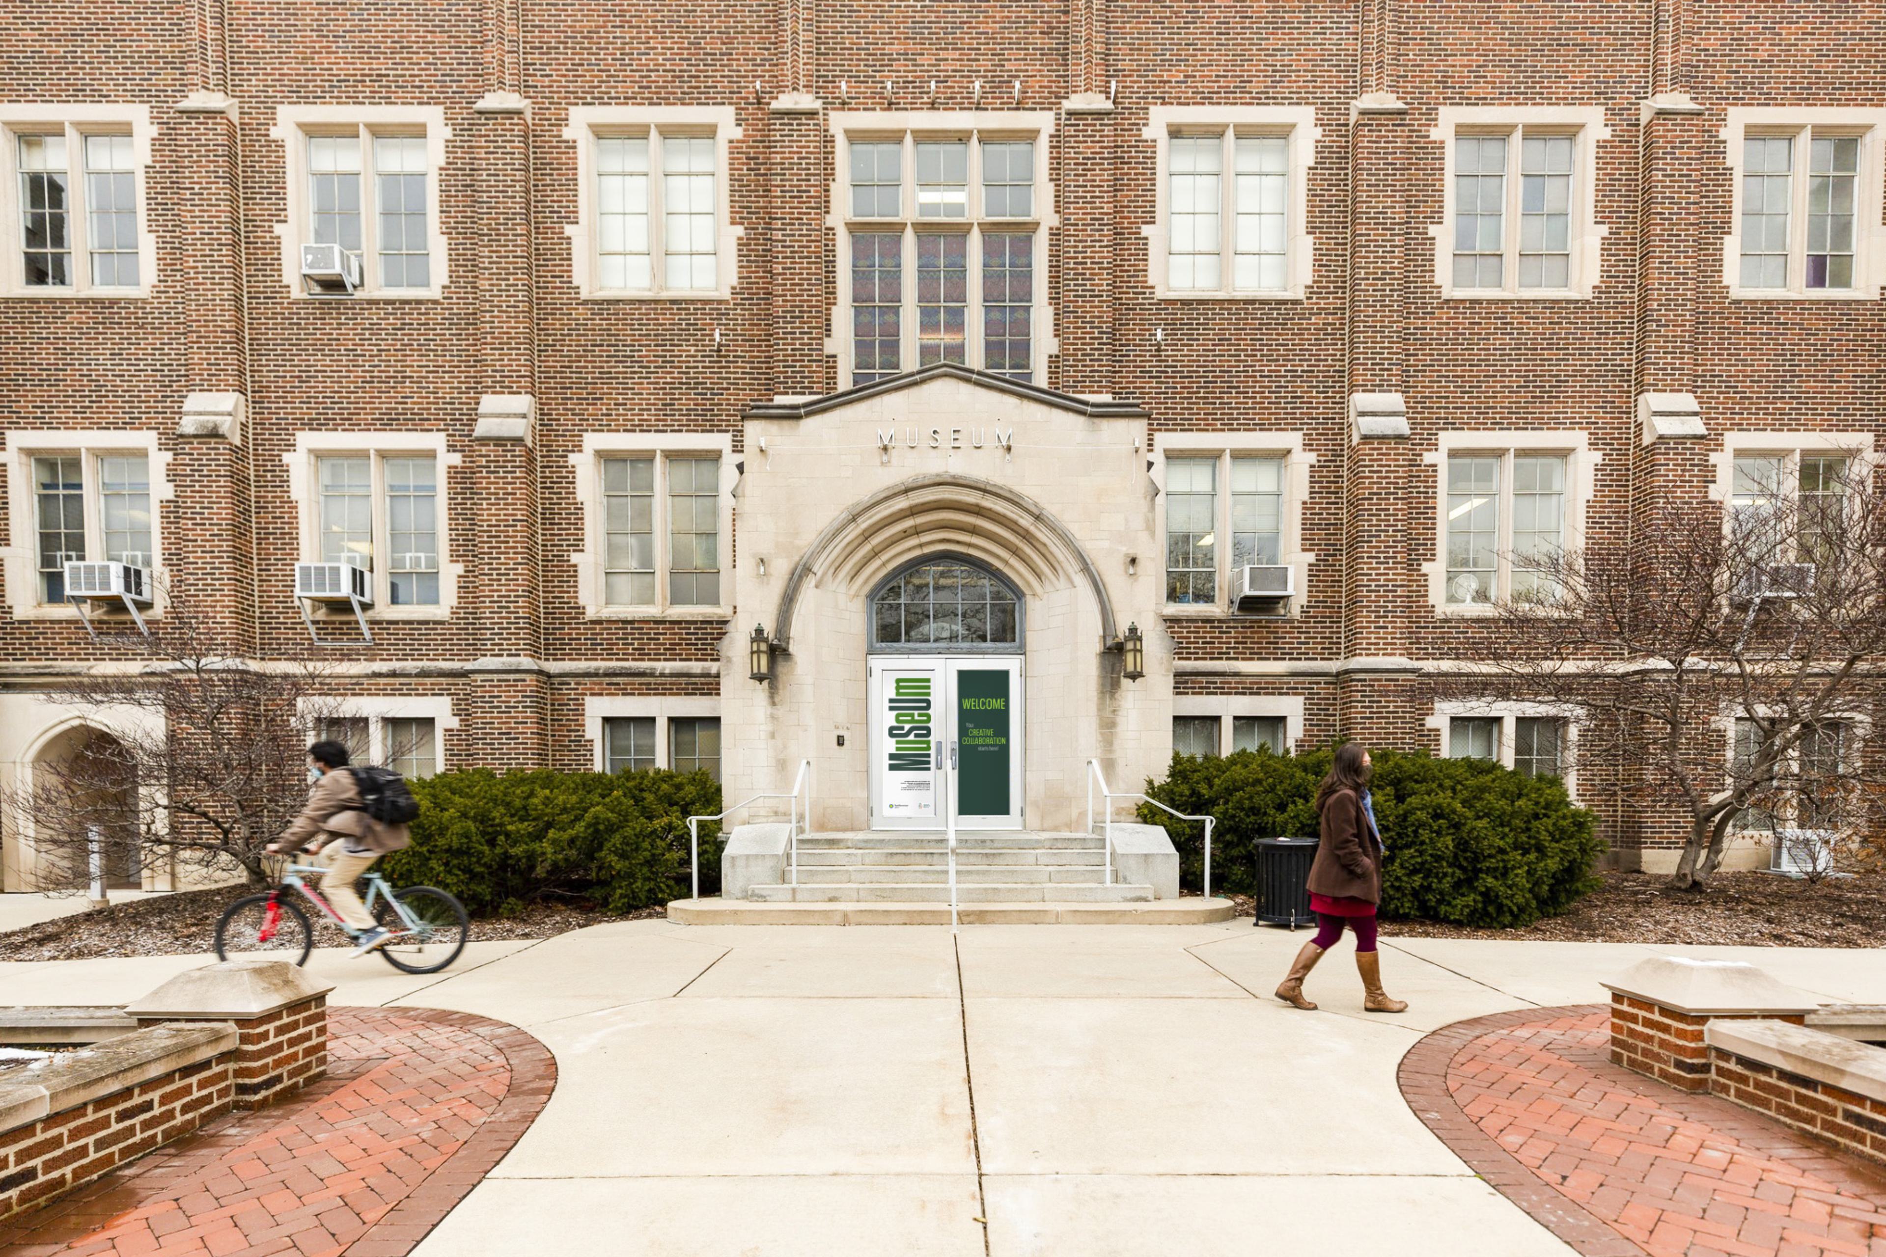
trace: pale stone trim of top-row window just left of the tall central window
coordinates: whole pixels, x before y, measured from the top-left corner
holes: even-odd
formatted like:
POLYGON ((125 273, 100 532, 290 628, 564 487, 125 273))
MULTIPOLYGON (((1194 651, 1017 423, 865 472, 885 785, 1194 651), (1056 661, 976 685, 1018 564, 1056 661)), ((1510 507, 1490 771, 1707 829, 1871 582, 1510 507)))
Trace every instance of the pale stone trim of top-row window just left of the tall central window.
POLYGON ((577 219, 564 224, 570 237, 570 281, 585 302, 730 302, 739 283, 739 239, 747 228, 734 224, 732 141, 743 132, 732 106, 575 106, 562 138, 577 151, 577 219), (664 285, 662 253, 662 136, 707 136, 713 139, 713 196, 715 196, 715 286, 668 288, 664 285), (596 247, 600 239, 600 190, 596 141, 611 138, 647 136, 649 151, 649 288, 604 288, 596 247))

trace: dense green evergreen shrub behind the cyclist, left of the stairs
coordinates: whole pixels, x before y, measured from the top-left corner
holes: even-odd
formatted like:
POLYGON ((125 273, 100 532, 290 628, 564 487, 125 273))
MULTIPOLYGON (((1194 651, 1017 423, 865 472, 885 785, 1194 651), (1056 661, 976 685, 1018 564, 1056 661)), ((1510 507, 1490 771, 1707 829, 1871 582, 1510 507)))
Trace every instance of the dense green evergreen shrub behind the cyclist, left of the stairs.
MULTIPOLYGON (((688 895, 688 816, 720 810, 705 773, 492 773, 409 782, 413 844, 381 861, 394 886, 438 886, 472 916, 530 901, 630 912, 688 895)), ((720 888, 720 827, 700 825, 702 895, 720 888)))

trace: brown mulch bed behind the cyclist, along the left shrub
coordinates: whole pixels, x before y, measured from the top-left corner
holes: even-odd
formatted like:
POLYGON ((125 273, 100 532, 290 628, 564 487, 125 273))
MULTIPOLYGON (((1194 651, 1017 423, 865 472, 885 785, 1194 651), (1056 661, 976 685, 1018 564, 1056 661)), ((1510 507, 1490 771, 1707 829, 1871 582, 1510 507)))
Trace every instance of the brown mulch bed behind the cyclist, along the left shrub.
MULTIPOLYGON (((94 912, 60 916, 38 925, 0 933, 0 961, 72 961, 100 955, 175 955, 179 952, 209 952, 217 918, 232 899, 255 893, 247 886, 217 886, 213 890, 179 891, 132 903, 111 905, 94 912)), ((304 903, 315 925, 317 948, 338 948, 347 937, 304 903)), ((604 912, 594 905, 526 905, 515 916, 472 920, 472 942, 498 939, 549 939, 585 925, 604 922, 634 922, 662 916, 662 908, 639 912, 604 912)))

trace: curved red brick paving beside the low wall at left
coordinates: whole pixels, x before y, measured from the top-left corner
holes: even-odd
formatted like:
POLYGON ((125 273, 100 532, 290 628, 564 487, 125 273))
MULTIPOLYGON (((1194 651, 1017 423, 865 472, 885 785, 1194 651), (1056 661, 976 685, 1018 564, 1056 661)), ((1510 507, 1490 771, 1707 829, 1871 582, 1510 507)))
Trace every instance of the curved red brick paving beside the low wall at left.
POLYGON ((432 1008, 330 1008, 328 1057, 300 1095, 0 1227, 0 1255, 404 1257, 556 1084, 524 1031, 432 1008))

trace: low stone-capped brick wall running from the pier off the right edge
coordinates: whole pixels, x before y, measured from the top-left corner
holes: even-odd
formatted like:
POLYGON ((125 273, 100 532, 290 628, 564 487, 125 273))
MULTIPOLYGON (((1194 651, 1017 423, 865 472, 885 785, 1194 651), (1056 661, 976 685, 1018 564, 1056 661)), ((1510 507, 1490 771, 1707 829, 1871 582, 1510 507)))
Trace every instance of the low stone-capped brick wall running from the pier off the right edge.
POLYGON ((1709 1089, 1886 1163, 1886 1050, 1784 1021, 1711 1027, 1709 1089))

